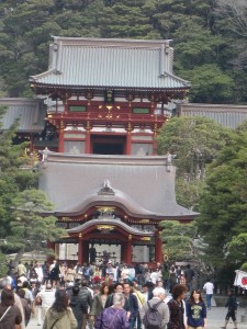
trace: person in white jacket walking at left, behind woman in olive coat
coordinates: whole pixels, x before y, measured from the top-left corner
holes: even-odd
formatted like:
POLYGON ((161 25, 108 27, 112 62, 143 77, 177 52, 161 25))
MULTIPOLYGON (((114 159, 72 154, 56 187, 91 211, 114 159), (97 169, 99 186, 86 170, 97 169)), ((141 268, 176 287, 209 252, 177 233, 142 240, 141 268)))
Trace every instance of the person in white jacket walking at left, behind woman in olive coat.
POLYGON ((42 320, 45 319, 45 315, 46 315, 48 308, 55 302, 55 291, 53 290, 53 286, 50 283, 47 283, 45 286, 45 290, 41 291, 36 295, 35 300, 36 300, 37 305, 38 305, 38 300, 41 304, 41 313, 37 314, 37 326, 41 326, 42 320))

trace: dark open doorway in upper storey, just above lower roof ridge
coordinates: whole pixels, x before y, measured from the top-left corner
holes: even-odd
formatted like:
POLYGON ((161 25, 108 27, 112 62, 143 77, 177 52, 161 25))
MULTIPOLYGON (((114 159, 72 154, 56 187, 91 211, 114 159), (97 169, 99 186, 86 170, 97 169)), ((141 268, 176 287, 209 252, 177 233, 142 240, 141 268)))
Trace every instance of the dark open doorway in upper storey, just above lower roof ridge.
POLYGON ((93 155, 125 155, 125 136, 91 136, 93 155))

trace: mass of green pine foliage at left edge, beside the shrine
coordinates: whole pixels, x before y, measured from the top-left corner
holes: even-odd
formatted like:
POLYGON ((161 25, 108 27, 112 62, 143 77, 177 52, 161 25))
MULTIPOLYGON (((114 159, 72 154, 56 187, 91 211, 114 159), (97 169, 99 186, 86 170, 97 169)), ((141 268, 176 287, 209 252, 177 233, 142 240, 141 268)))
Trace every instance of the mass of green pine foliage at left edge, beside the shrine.
MULTIPOLYGON (((0 116, 4 111, 0 107, 0 116)), ((35 160, 26 155, 26 144, 13 144, 18 124, 19 121, 14 122, 0 135, 0 246, 5 253, 21 254, 26 250, 43 250, 44 241, 53 241, 64 230, 47 214, 52 204, 46 195, 35 190, 35 160)))

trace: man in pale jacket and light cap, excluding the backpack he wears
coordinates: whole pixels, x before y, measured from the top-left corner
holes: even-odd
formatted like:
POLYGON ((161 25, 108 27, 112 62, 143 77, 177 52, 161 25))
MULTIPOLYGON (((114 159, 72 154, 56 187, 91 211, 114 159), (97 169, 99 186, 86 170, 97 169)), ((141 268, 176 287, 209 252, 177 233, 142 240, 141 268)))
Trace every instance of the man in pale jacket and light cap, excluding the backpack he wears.
MULTIPOLYGON (((147 310, 150 307, 154 307, 155 305, 157 305, 157 310, 161 316, 161 327, 160 329, 166 329, 167 328, 167 324, 169 321, 169 308, 167 306, 166 303, 164 303, 164 299, 166 298, 166 291, 162 287, 156 287, 153 291, 154 297, 146 302, 142 309, 141 309, 141 319, 144 320, 145 314, 147 313, 147 310), (149 306, 148 306, 149 304, 149 306)), ((145 328, 148 329, 148 328, 145 328)))

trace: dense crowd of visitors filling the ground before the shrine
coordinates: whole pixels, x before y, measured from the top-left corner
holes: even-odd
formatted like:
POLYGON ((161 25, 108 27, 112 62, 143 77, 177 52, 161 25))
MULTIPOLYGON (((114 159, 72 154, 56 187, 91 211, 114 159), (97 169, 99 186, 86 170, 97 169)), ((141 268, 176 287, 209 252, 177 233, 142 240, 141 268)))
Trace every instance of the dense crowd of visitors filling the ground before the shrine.
POLYGON ((206 328, 210 307, 193 276, 189 264, 10 263, 0 283, 0 329, 24 329, 31 317, 44 329, 206 328))

